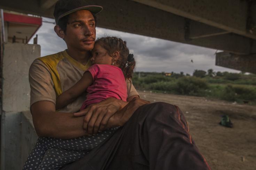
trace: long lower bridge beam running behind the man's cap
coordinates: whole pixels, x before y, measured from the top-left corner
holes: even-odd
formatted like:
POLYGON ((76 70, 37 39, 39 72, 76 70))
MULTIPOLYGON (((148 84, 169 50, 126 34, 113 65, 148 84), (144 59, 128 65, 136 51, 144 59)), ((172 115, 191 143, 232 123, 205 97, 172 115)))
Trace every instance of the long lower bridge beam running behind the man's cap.
MULTIPOLYGON (((168 0, 164 1, 170 2, 168 0)), ((179 3, 178 0, 173 1, 179 3)), ((142 3, 131 0, 88 0, 88 3, 103 6, 103 11, 97 15, 99 27, 204 46, 237 54, 256 52, 256 40, 227 33, 225 29, 215 28, 214 26, 197 21, 191 22, 191 30, 187 34, 185 28, 186 18, 142 3)), ((53 7, 42 9, 38 1, 35 0, 24 0, 22 5, 20 0, 2 0, 0 1, 0 8, 2 7, 53 18, 53 7)), ((236 16, 236 14, 234 15, 236 16)), ((222 20, 222 18, 218 17, 220 16, 216 15, 217 19, 222 20)), ((246 21, 242 21, 242 23, 244 22, 246 21)))

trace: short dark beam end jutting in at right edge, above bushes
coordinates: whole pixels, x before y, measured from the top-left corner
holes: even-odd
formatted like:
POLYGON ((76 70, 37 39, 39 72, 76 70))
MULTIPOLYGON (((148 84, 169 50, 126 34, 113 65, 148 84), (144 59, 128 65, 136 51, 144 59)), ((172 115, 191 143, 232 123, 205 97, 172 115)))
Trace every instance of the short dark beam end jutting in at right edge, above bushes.
POLYGON ((216 66, 256 74, 256 54, 237 55, 228 52, 219 52, 216 53, 216 66))

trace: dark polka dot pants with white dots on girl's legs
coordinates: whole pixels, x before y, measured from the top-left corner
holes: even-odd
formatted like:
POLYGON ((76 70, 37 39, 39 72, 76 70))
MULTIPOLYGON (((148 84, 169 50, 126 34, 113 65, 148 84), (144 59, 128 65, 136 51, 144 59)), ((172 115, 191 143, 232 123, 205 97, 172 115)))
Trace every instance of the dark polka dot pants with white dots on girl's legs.
POLYGON ((93 136, 74 139, 39 137, 28 156, 23 170, 57 170, 75 162, 114 133, 118 127, 110 128, 93 136))

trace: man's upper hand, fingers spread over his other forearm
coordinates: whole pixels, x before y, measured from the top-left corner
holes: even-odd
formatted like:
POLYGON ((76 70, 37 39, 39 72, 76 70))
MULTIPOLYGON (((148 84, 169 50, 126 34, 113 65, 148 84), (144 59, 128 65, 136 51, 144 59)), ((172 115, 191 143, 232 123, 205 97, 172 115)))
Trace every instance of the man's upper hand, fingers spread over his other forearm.
POLYGON ((108 98, 99 103, 91 104, 86 109, 73 115, 75 117, 85 116, 83 129, 89 135, 93 135, 106 129, 110 117, 121 110, 127 103, 115 98, 108 98))

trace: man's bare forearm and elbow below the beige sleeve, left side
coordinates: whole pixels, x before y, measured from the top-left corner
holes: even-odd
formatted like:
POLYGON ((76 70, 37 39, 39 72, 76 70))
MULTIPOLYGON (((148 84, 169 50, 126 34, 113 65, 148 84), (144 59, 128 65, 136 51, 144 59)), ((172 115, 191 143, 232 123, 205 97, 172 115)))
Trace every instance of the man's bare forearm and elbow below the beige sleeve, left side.
POLYGON ((77 138, 86 136, 83 117, 73 117, 72 113, 56 112, 49 101, 39 101, 31 106, 33 124, 40 137, 77 138))

